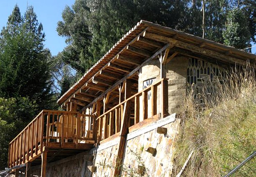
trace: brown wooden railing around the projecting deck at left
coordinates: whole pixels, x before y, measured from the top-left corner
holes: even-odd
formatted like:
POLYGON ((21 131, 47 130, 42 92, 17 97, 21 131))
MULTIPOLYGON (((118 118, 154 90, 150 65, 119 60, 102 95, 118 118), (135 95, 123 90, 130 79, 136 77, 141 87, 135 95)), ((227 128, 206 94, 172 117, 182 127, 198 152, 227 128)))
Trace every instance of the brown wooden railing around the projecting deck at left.
POLYGON ((79 112, 43 110, 9 143, 8 166, 32 161, 52 142, 63 147, 95 139, 91 134, 94 122, 90 115, 79 112))

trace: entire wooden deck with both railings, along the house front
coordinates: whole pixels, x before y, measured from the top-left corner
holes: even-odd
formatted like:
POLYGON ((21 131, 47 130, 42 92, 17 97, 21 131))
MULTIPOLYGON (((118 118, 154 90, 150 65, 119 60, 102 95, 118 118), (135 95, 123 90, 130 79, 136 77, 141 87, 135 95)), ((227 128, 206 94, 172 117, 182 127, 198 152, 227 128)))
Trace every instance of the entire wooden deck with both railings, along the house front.
POLYGON ((45 177, 47 162, 92 149, 94 145, 116 136, 121 136, 118 148, 118 158, 121 158, 128 128, 134 131, 146 119, 167 115, 167 85, 167 79, 162 78, 131 95, 131 81, 126 80, 124 101, 107 110, 108 100, 104 99, 102 110, 102 100, 99 100, 90 114, 43 110, 10 142, 8 167, 26 164, 28 172, 31 165, 41 164, 41 176, 45 177))

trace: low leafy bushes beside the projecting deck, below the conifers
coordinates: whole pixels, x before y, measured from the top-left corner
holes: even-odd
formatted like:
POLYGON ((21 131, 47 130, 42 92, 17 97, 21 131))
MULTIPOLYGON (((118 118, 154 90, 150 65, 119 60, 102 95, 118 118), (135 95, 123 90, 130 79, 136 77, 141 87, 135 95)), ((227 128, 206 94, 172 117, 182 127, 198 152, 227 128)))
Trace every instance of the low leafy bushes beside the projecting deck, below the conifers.
POLYGON ((34 118, 35 102, 28 98, 0 98, 0 170, 7 167, 9 142, 34 118))

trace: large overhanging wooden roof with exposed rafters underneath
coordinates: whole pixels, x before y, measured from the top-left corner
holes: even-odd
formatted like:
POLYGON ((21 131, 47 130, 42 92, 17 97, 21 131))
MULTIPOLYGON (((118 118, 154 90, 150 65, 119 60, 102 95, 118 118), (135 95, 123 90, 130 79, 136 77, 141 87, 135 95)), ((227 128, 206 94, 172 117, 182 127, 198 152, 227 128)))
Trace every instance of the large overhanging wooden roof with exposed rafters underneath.
MULTIPOLYGON (((113 86, 118 86, 120 79, 129 77, 136 81, 136 71, 140 65, 157 57, 167 47, 172 47, 169 56, 176 52, 221 64, 244 65, 248 60, 254 66, 256 63, 254 54, 141 20, 64 93, 57 103, 70 101, 86 106, 95 102, 110 87, 112 89, 113 86)), ((115 91, 111 94, 113 97, 118 95, 115 91)))

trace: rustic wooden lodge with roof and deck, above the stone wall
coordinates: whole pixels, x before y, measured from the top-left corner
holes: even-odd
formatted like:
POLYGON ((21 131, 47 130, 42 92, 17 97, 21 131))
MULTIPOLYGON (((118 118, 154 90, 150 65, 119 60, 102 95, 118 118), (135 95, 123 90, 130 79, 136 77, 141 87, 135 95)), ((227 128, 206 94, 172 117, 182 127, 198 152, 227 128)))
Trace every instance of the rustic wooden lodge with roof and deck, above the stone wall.
POLYGON ((60 97, 63 111, 43 110, 10 142, 10 173, 42 164, 45 177, 48 162, 114 137, 122 159, 127 133, 174 113, 188 84, 222 81, 225 68, 248 62, 256 56, 141 20, 60 97))

